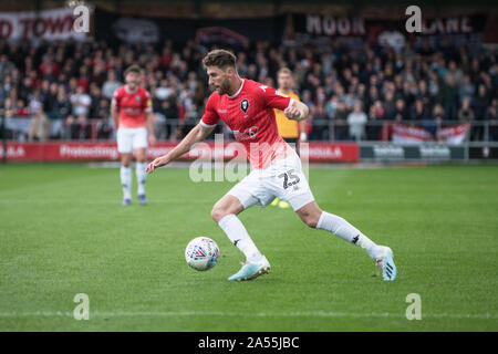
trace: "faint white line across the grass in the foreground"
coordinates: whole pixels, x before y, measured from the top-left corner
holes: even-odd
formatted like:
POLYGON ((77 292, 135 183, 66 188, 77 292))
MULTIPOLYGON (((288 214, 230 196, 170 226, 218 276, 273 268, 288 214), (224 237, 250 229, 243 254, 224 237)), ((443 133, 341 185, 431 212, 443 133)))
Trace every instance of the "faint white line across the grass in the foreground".
MULTIPOLYGON (((152 311, 117 311, 117 312, 90 312, 90 317, 128 317, 128 316, 159 316, 159 317, 181 317, 181 316, 241 316, 241 317, 387 317, 404 319, 404 314, 392 312, 255 312, 255 313, 237 313, 221 311, 170 311, 170 312, 152 312, 152 311)), ((38 311, 38 312, 0 312, 0 317, 35 317, 35 316, 64 316, 72 317, 72 312, 63 311, 38 311)), ((423 313, 422 317, 432 319, 478 319, 478 320, 497 320, 498 314, 495 313, 477 313, 477 314, 452 314, 452 313, 423 313)))

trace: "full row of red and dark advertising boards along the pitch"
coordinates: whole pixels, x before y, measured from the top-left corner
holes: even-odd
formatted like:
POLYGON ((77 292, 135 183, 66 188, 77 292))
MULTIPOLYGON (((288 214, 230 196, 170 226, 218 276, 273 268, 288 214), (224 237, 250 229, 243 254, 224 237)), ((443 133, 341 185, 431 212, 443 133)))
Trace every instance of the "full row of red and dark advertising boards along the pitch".
MULTIPOLYGON (((149 159, 170 152, 178 143, 157 143, 147 149, 149 159)), ((320 143, 308 144, 310 163, 356 163, 356 162, 467 162, 470 159, 498 159, 497 143, 464 143, 463 145, 424 143, 394 144, 390 142, 320 143)), ((0 156, 9 162, 84 162, 117 160, 120 155, 112 142, 7 142, 0 147, 0 156), (6 154, 4 154, 6 153, 6 154)), ((245 160, 225 143, 222 152, 215 142, 198 145, 183 156, 183 160, 198 158, 245 160)))

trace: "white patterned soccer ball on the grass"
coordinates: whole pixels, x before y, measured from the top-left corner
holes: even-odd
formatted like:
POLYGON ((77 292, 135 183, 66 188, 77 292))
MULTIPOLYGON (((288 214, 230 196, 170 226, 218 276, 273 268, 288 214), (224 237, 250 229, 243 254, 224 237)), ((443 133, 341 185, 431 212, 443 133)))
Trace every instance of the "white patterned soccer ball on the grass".
POLYGON ((188 242, 185 249, 187 264, 195 270, 208 270, 216 266, 219 259, 218 244, 207 237, 197 237, 188 242))

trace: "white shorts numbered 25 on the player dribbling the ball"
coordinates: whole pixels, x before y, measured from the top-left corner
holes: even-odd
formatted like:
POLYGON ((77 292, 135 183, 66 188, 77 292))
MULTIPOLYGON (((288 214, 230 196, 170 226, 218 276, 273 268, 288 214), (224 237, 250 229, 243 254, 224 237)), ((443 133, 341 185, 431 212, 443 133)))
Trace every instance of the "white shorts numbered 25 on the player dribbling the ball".
POLYGON ((240 200, 247 209, 253 205, 264 208, 276 197, 299 210, 314 200, 302 171, 301 159, 293 149, 286 158, 272 162, 266 169, 253 169, 227 194, 240 200))

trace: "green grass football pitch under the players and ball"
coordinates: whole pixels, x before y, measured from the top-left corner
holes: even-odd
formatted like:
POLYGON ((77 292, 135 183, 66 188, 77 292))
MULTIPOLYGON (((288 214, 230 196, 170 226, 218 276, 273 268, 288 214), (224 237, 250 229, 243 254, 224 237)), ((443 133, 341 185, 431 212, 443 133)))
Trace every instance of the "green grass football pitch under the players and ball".
POLYGON ((324 210, 393 249, 394 282, 362 249, 273 207, 240 216, 271 273, 227 281, 242 254, 209 214, 231 185, 162 168, 149 205, 124 208, 116 168, 0 166, 0 331, 498 330, 497 166, 310 170, 324 210), (197 236, 220 248, 207 272, 185 262, 197 236), (73 319, 76 293, 89 321, 73 319), (409 293, 419 321, 405 317, 409 293))

